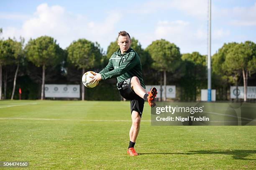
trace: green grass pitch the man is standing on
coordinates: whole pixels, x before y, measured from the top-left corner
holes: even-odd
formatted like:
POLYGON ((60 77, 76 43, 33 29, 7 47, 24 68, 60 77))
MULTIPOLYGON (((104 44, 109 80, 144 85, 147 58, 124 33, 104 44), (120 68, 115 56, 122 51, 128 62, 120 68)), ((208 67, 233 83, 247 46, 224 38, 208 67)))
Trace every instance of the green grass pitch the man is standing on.
POLYGON ((140 155, 130 157, 130 102, 0 101, 0 161, 28 161, 28 169, 256 167, 256 127, 151 126, 150 119, 145 104, 140 155))

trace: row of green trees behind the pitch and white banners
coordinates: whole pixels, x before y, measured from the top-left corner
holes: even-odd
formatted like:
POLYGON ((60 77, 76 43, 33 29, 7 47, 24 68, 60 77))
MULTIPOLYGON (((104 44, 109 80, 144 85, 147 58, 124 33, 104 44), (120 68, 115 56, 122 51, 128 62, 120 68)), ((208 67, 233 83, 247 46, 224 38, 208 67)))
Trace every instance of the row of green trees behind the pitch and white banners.
MULTIPOLYGON (((146 49, 135 38, 131 47, 139 54, 144 82, 151 85, 176 85, 176 100, 200 99, 200 89, 207 89, 207 56, 198 52, 180 53, 179 47, 164 39, 153 41, 146 49)), ((86 39, 73 41, 62 49, 54 38, 0 40, 0 99, 44 99, 44 84, 81 84, 86 71, 99 72, 113 52, 116 41, 103 52, 100 44, 86 39), (3 91, 2 91, 3 89, 3 91)), ((212 56, 212 89, 217 100, 229 100, 230 85, 256 85, 256 44, 225 43, 212 56)), ((81 99, 120 100, 116 79, 101 81, 84 89, 81 99)), ((166 100, 166 95, 162 94, 166 100)), ((246 96, 244 98, 246 100, 246 96)))

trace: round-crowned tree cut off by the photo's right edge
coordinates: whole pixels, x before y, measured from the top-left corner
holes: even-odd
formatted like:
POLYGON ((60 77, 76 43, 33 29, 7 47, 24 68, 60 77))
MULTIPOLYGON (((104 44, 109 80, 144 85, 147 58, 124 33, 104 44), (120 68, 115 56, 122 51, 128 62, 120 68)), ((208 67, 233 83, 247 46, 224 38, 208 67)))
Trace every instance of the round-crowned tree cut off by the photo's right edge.
POLYGON ((230 48, 226 56, 225 65, 229 72, 243 74, 244 101, 247 100, 248 72, 255 72, 256 44, 251 41, 236 44, 230 48))

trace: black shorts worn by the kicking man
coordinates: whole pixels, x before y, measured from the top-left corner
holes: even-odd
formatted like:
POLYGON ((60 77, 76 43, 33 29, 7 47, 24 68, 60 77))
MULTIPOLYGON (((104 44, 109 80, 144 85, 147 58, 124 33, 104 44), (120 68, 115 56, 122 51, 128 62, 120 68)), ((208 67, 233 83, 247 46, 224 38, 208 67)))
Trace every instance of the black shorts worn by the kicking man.
POLYGON ((123 98, 127 100, 131 100, 131 113, 134 111, 140 114, 140 117, 143 112, 144 107, 144 99, 138 96, 132 89, 131 89, 131 78, 118 82, 117 84, 119 93, 123 98))

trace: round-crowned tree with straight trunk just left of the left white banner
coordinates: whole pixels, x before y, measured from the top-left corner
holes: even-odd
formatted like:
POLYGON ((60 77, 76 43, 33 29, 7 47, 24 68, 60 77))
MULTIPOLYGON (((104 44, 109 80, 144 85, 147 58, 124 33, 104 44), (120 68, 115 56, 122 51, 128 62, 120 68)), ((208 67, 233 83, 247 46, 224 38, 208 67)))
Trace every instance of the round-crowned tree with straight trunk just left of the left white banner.
POLYGON ((61 62, 63 50, 54 38, 41 36, 30 39, 25 47, 26 57, 37 67, 42 67, 41 100, 44 99, 45 70, 47 66, 54 66, 61 62))

